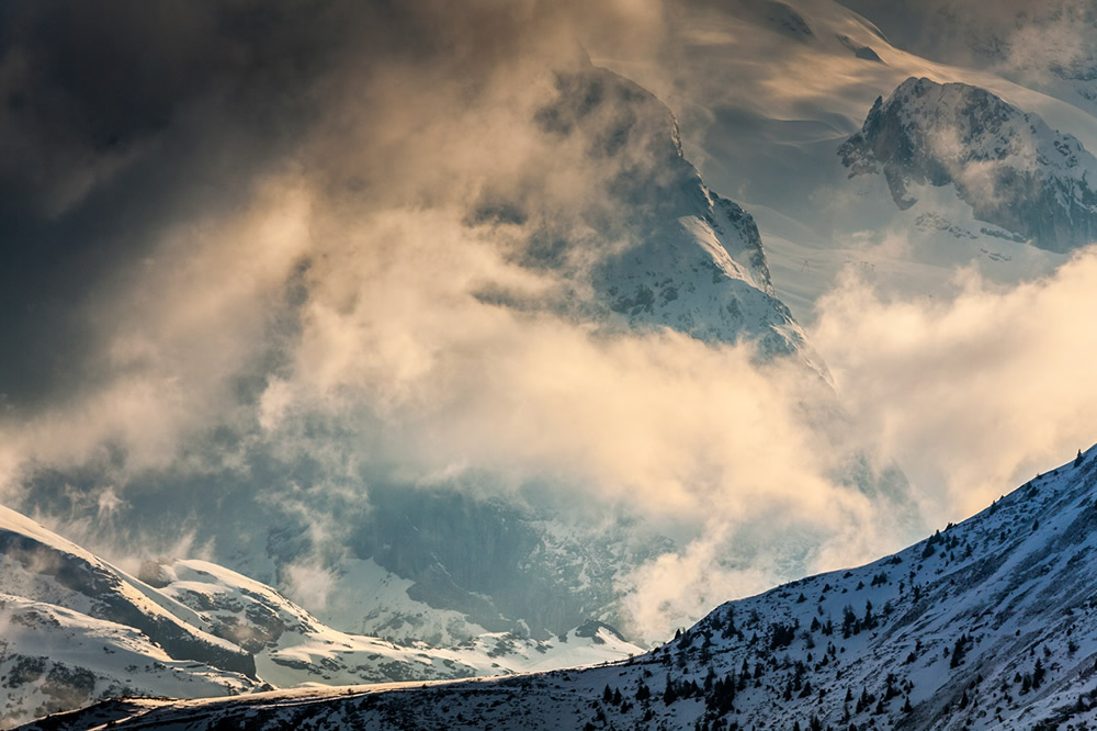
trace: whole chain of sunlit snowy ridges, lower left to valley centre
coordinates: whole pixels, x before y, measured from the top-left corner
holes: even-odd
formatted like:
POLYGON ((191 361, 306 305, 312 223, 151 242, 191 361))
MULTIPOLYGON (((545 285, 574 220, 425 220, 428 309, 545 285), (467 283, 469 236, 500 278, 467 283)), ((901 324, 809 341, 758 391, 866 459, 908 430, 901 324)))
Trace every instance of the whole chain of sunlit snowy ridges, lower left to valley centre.
POLYGON ((0 727, 115 696, 449 679, 641 652, 597 621, 548 641, 494 632, 397 645, 327 627, 208 562, 147 562, 140 575, 0 507, 0 727))

